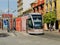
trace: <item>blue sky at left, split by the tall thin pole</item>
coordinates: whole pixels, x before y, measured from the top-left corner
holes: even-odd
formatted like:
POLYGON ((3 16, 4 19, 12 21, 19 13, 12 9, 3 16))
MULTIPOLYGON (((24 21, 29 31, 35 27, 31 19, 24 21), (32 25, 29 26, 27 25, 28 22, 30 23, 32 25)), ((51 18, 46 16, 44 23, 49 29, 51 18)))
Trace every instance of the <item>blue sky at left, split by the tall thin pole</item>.
MULTIPOLYGON (((0 10, 7 12, 7 9, 8 9, 8 0, 0 0, 0 10)), ((13 10, 17 10, 17 0, 9 0, 9 9, 10 13, 12 13, 13 10)), ((17 15, 17 11, 13 14, 17 15)))

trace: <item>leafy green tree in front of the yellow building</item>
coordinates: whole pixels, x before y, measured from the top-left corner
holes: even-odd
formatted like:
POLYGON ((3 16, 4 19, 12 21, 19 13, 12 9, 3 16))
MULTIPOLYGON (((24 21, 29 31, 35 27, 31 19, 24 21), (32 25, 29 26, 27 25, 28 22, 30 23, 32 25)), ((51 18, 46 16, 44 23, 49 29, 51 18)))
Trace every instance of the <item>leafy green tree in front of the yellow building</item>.
POLYGON ((56 13, 55 11, 48 12, 43 16, 43 22, 47 24, 51 24, 51 26, 54 25, 54 22, 56 22, 56 13))

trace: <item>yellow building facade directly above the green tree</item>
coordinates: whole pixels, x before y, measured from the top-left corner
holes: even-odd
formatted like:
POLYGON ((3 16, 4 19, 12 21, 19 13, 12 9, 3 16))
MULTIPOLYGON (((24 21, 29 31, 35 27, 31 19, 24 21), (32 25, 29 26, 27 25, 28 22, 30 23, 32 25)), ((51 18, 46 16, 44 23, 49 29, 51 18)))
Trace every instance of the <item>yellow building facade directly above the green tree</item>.
POLYGON ((46 12, 54 11, 56 9, 55 0, 45 0, 46 12))

